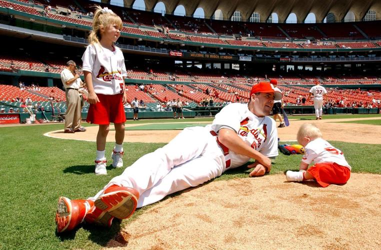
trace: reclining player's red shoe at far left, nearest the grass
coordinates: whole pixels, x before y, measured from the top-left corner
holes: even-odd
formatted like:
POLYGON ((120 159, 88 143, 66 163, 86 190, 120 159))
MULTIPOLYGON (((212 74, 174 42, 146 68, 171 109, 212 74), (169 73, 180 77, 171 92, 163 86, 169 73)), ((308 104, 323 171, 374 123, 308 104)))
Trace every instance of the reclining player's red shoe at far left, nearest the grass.
POLYGON ((55 224, 57 232, 69 231, 80 224, 85 215, 93 209, 92 200, 59 197, 57 212, 55 213, 55 224))

